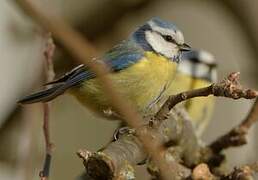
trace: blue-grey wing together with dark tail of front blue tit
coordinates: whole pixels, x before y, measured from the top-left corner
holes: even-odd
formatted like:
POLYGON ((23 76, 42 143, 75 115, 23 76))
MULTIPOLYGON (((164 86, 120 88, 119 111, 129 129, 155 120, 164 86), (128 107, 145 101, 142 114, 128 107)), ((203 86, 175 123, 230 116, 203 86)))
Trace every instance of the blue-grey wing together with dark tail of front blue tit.
MULTIPOLYGON (((135 64, 143 56, 143 49, 137 46, 135 42, 124 41, 113 47, 103 56, 102 60, 98 61, 103 61, 115 73, 135 64)), ((63 94, 67 89, 94 77, 96 75, 85 65, 79 65, 61 78, 46 84, 53 84, 53 87, 26 96, 18 102, 22 104, 47 102, 63 94)))

